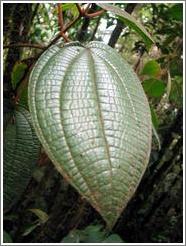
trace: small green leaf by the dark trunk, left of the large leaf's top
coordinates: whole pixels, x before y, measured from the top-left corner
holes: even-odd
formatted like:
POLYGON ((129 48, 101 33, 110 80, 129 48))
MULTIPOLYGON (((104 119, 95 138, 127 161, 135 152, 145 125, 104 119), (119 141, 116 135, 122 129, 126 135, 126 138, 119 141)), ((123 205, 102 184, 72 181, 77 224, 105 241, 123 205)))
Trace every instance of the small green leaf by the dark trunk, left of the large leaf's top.
POLYGON ((13 89, 16 89, 16 86, 23 78, 26 69, 27 69, 27 65, 25 63, 16 63, 14 65, 14 68, 11 74, 11 83, 12 83, 13 89))

